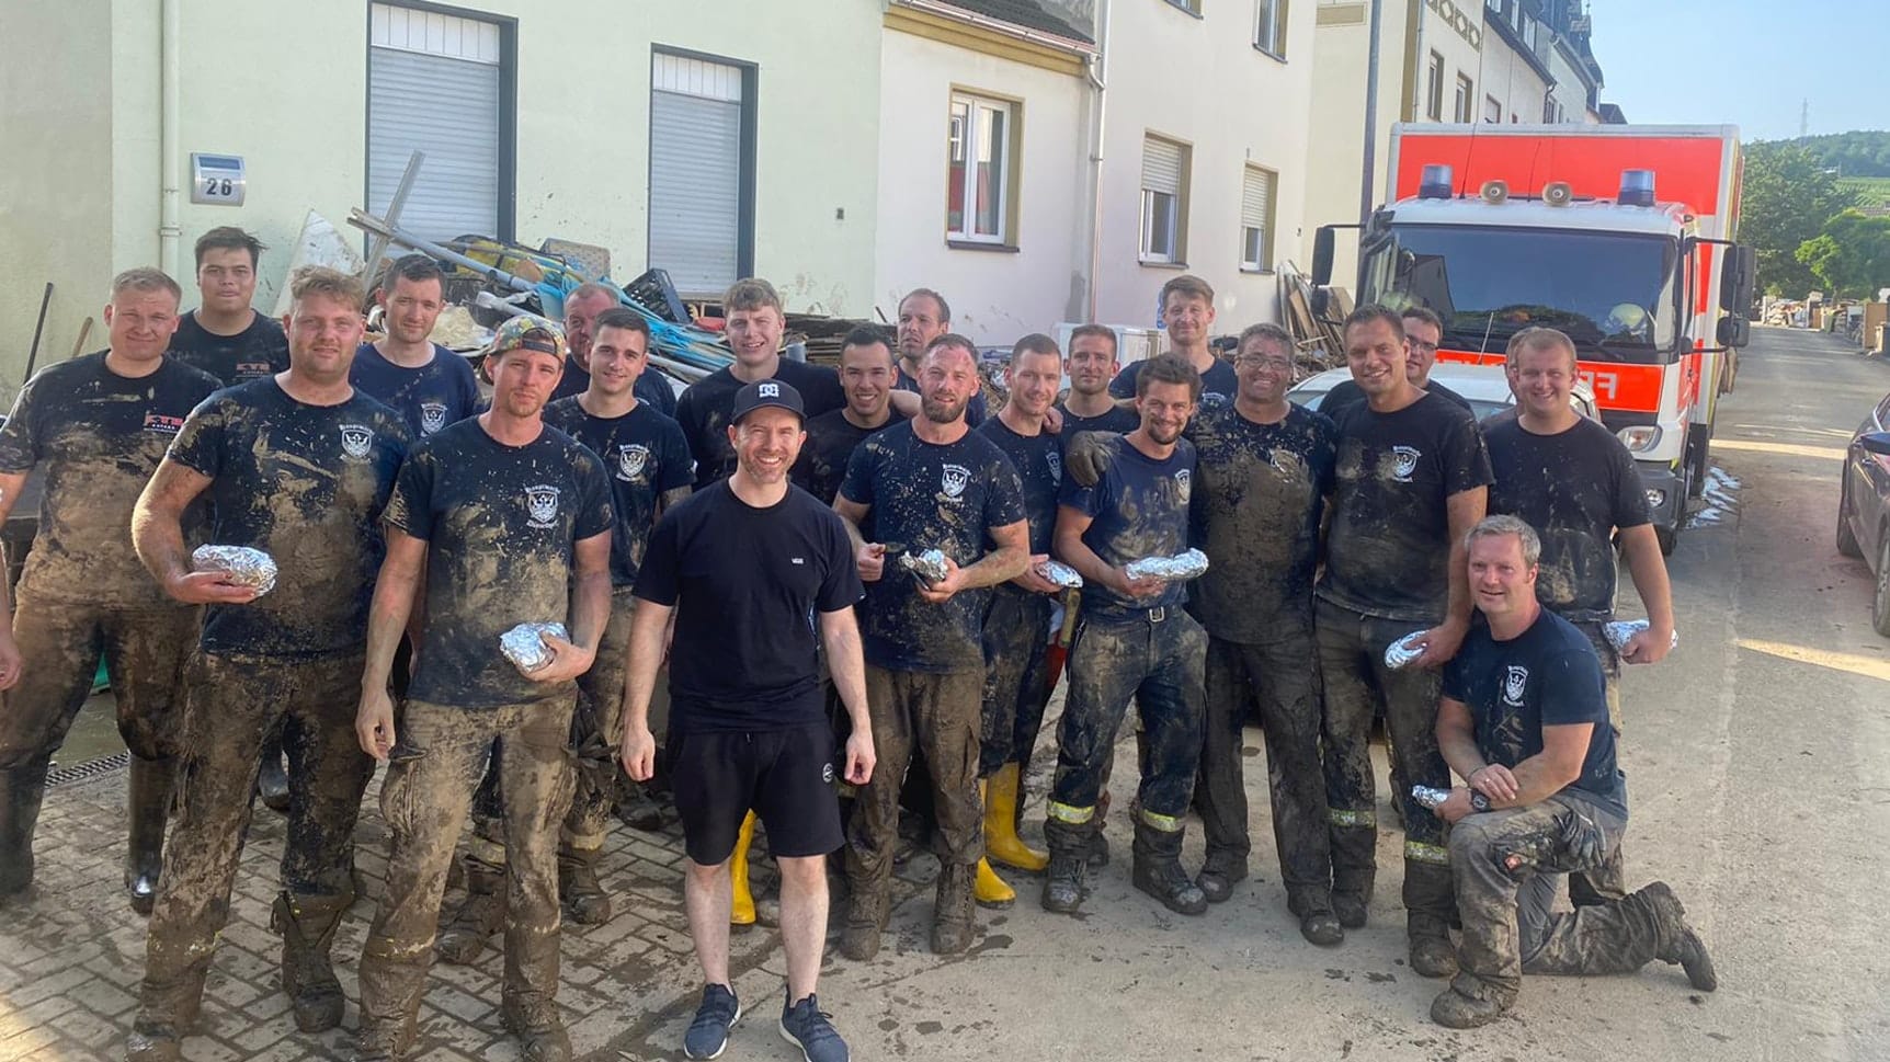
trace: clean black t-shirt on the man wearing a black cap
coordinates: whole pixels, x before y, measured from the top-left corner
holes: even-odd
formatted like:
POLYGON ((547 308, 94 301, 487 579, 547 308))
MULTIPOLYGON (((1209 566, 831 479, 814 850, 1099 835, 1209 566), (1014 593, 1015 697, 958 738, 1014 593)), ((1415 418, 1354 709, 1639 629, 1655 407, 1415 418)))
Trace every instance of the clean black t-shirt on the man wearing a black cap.
POLYGON ((820 620, 860 599, 847 522, 799 488, 767 508, 728 482, 650 535, 637 597, 677 608, 669 731, 771 731, 826 718, 820 620))

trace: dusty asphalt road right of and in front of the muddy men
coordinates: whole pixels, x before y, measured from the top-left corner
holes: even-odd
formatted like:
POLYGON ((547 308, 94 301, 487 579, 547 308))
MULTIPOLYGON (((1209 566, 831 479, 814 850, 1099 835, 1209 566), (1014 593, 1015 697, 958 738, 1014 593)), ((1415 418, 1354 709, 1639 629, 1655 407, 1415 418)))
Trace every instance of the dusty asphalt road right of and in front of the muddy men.
MULTIPOLYGON (((975 952, 939 962, 924 951, 926 894, 896 913, 896 952, 830 962, 822 1005, 856 1058, 1890 1058, 1890 642, 1869 627, 1867 571, 1831 540, 1845 440, 1886 389, 1890 370, 1831 336, 1758 331, 1722 406, 1724 474, 1671 557, 1680 648, 1625 678, 1629 882, 1675 886, 1712 947, 1716 994, 1654 964, 1529 979, 1484 1030, 1431 1024, 1442 985, 1404 964, 1393 839, 1372 924, 1338 949, 1306 945, 1255 758, 1259 881, 1204 918, 1132 892, 1119 858, 1079 920, 1045 915, 1022 879, 975 952)), ((1132 760, 1119 767, 1126 807, 1132 760)), ((1126 856, 1126 822, 1111 833, 1126 856)), ((1198 839, 1189 850, 1198 864, 1198 839)), ((743 998, 779 994, 777 975, 779 956, 743 998)), ((775 1056, 764 1039, 745 1022, 731 1053, 775 1056)))

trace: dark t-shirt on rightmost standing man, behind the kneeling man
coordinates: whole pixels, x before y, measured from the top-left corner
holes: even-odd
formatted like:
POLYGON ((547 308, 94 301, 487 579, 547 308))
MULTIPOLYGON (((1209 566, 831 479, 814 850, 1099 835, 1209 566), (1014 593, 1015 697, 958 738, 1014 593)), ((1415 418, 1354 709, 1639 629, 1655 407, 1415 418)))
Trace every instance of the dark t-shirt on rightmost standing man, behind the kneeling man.
POLYGON ((1497 476, 1489 512, 1520 516, 1542 539, 1537 599, 1565 620, 1614 618, 1614 529, 1650 522, 1633 455, 1588 418, 1555 435, 1506 418, 1484 440, 1497 476))

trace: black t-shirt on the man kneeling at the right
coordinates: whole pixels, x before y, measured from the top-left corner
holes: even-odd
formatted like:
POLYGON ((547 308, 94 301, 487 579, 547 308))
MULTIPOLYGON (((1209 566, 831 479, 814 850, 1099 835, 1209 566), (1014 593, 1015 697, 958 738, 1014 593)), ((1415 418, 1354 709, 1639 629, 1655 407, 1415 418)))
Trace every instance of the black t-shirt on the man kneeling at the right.
POLYGON ((1514 769, 1542 752, 1544 726, 1595 724, 1582 777, 1571 788, 1627 814, 1627 786, 1614 760, 1614 726, 1601 659, 1588 635, 1548 608, 1521 635, 1499 642, 1482 622, 1444 665, 1444 695, 1476 720, 1476 750, 1514 769))

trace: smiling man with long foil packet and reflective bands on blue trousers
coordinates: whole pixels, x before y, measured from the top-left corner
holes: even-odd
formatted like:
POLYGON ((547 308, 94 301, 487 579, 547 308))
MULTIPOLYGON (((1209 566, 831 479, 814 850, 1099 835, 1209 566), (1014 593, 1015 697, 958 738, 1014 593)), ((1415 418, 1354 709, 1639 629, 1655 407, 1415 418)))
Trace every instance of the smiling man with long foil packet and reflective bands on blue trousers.
POLYGON ((1057 499, 1057 559, 1083 576, 1083 616, 1070 644, 1070 692, 1057 728, 1051 786, 1051 864, 1043 909, 1074 915, 1083 903, 1089 854, 1130 699, 1145 739, 1136 792, 1134 884, 1170 911, 1200 915, 1208 898, 1181 869, 1181 816, 1200 767, 1202 663, 1208 635, 1181 603, 1187 584, 1128 574, 1128 565, 1189 548, 1194 444, 1181 438, 1200 374, 1177 355, 1140 367, 1142 427, 1098 444, 1096 478, 1068 478, 1057 499))

